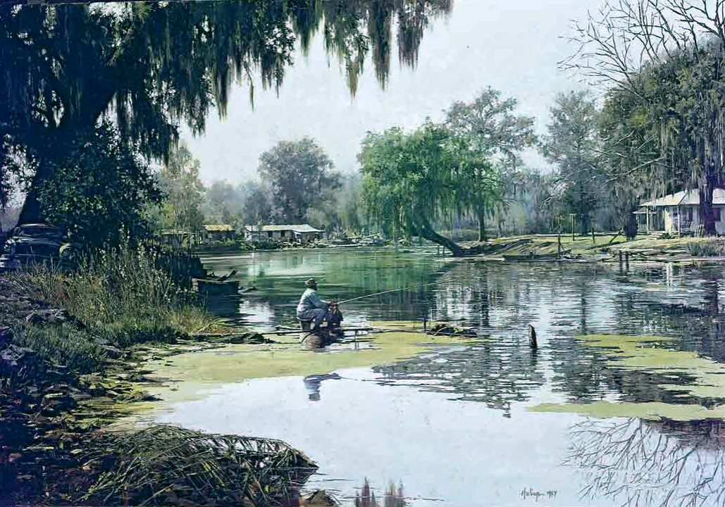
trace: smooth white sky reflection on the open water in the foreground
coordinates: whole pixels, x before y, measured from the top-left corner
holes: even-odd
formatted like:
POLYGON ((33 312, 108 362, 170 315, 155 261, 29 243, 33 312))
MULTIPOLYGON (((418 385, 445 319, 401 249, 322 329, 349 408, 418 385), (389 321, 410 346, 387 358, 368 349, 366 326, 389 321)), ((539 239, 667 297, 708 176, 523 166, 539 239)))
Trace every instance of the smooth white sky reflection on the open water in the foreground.
POLYGON ((301 377, 252 380, 181 403, 161 420, 285 440, 320 464, 309 487, 340 498, 354 495, 368 477, 379 488, 402 482, 415 506, 431 505, 430 499, 441 506, 537 505, 520 497, 529 487, 558 490, 545 505, 581 504, 571 470, 554 466, 566 456, 568 427, 579 418, 532 416, 521 407, 501 424, 499 414, 479 403, 381 386, 368 369, 339 373, 341 380, 321 382, 319 401, 310 401, 301 377))

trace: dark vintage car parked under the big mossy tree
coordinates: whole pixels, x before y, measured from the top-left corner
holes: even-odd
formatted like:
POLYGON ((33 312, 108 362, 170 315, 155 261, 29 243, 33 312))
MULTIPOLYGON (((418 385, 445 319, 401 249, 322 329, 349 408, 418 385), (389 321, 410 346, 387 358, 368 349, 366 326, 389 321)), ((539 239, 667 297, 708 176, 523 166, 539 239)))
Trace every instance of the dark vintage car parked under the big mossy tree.
POLYGON ((72 246, 57 227, 24 224, 15 227, 0 255, 0 272, 33 264, 60 266, 72 256, 72 246))

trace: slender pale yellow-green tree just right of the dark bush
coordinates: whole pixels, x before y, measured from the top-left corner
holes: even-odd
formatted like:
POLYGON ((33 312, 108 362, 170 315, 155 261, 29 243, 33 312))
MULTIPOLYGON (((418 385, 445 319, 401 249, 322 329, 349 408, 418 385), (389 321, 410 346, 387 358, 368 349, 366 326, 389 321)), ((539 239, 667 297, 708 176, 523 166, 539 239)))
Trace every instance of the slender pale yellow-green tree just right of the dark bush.
POLYGON ((202 229, 204 184, 199 180, 200 167, 199 160, 182 143, 159 170, 159 188, 164 200, 159 206, 157 222, 162 229, 185 232, 202 229))

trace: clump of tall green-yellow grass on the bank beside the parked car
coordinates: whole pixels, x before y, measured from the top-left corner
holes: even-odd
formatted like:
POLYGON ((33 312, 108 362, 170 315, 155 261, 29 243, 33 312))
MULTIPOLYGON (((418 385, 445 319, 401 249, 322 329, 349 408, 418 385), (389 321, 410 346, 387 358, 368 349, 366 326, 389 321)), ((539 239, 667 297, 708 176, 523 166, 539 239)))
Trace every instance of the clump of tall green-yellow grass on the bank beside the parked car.
POLYGON ((13 276, 65 308, 101 341, 120 347, 173 342, 215 327, 216 319, 191 304, 191 294, 174 285, 156 261, 144 248, 120 248, 91 256, 72 273, 33 267, 13 276))

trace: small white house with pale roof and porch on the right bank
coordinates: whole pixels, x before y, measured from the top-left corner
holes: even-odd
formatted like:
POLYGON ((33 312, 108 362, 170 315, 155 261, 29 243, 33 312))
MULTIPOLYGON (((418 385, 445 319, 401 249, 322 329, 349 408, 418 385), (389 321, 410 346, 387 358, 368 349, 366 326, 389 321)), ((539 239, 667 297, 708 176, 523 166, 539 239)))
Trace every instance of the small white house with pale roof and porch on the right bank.
MULTIPOLYGON (((725 188, 713 190, 715 230, 725 234, 725 188)), ((682 190, 647 201, 634 211, 640 231, 667 232, 671 235, 696 234, 702 229, 700 193, 697 189, 682 190)))

